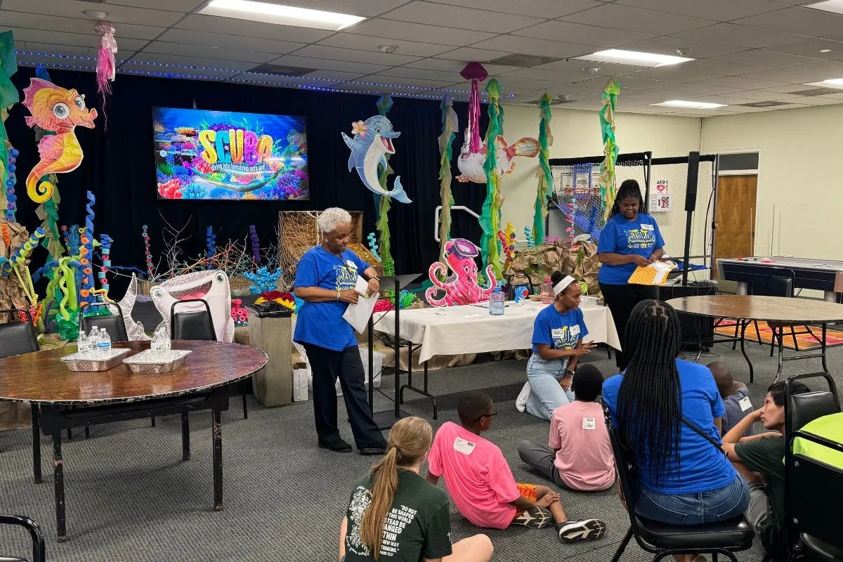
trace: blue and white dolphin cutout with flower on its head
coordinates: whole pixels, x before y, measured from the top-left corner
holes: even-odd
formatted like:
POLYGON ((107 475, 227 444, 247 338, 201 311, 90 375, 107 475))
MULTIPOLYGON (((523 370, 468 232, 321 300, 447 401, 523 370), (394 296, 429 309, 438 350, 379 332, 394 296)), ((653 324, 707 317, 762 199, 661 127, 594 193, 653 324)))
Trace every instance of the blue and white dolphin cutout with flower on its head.
POLYGON ((395 154, 395 147, 392 144, 392 139, 400 136, 400 132, 392 130, 392 123, 384 115, 374 115, 365 121, 357 121, 352 123, 352 135, 350 138, 346 133, 340 133, 342 140, 352 150, 351 156, 348 157, 348 171, 352 168, 357 169, 357 174, 360 175, 363 185, 368 190, 392 197, 395 201, 402 203, 411 203, 411 199, 407 197, 404 191, 404 186, 401 185, 401 176, 395 176, 395 186, 391 191, 384 190, 380 186, 378 177, 378 165, 387 168, 386 154, 395 154))

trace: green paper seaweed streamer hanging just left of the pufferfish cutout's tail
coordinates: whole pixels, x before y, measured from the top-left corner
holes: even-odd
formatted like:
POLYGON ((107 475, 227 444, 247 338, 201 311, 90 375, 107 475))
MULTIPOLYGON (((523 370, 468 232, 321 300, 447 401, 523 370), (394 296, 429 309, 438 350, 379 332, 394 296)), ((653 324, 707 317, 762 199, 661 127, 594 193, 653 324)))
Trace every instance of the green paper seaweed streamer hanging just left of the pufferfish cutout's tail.
MULTIPOLYGON (((497 238, 497 231, 501 229, 501 178, 497 174, 497 154, 495 140, 503 134, 503 108, 499 103, 501 85, 495 78, 486 83, 486 94, 489 95, 489 128, 486 129, 486 201, 480 216, 480 226, 483 229, 480 249, 483 264, 491 265, 497 279, 501 274, 501 243, 497 238)), ((490 280, 491 281, 491 280, 490 280)))

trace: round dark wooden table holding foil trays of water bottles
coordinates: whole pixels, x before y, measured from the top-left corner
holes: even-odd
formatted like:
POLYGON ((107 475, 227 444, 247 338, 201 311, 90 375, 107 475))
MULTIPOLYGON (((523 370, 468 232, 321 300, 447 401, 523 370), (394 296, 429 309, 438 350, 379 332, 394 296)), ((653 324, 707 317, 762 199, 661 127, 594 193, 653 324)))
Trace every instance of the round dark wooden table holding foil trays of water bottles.
MULTIPOLYGON (((113 347, 128 348, 128 357, 148 350, 149 342, 116 342, 113 347)), ((67 540, 62 431, 72 427, 181 414, 182 458, 186 461, 190 459, 188 414, 210 409, 214 511, 222 511, 221 412, 228 409, 229 387, 260 371, 266 365, 266 353, 246 345, 195 340, 175 340, 172 349, 191 354, 183 366, 160 374, 134 373, 123 363, 108 371, 72 372, 61 359, 76 352, 76 346, 0 360, 0 400, 32 404, 34 436, 40 425, 44 435, 52 437, 58 542, 67 540)), ((33 442, 33 472, 35 482, 40 482, 40 439, 33 442)))

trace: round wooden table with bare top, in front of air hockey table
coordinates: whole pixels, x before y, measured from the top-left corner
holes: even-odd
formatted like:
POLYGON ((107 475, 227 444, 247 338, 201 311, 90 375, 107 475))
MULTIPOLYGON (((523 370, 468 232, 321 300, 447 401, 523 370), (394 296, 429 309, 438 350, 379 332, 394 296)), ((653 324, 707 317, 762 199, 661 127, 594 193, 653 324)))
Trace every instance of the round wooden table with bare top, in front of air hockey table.
MULTIPOLYGON (((778 345, 778 370, 774 382, 781 376, 784 361, 797 361, 802 359, 819 358, 823 362, 824 372, 829 372, 825 362, 825 332, 826 324, 840 322, 843 320, 843 304, 836 302, 815 301, 807 298, 787 297, 762 297, 756 295, 701 295, 698 297, 681 297, 668 301, 679 313, 691 314, 701 318, 733 318, 740 326, 740 337, 717 340, 719 342, 739 341, 741 352, 744 354, 749 365, 749 382, 753 382, 754 370, 752 361, 746 354, 744 347, 744 333, 747 326, 752 322, 768 322, 773 331, 771 345, 776 346, 776 329, 780 331, 777 336, 778 345), (776 324, 781 324, 776 326, 776 324), (823 334, 819 339, 819 354, 804 354, 800 356, 784 356, 783 332, 784 325, 807 325, 821 324, 823 334)), ((702 338, 702 330, 697 330, 702 338)), ((812 332, 813 335, 813 332, 812 332)), ((702 347, 700 348, 702 349, 702 347)), ((699 355, 697 356, 699 358, 699 355)))

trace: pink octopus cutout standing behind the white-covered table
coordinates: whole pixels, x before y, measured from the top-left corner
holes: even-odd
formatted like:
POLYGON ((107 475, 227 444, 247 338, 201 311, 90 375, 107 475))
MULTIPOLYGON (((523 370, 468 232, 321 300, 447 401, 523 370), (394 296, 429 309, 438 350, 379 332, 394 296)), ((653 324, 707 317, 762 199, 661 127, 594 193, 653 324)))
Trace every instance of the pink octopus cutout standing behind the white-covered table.
POLYGON ((448 265, 437 261, 433 262, 427 270, 427 276, 434 285, 425 292, 427 302, 434 307, 447 307, 489 300, 489 295, 495 289, 495 277, 489 265, 486 267, 486 280, 489 286, 481 287, 477 284, 477 264, 475 263, 477 255, 477 246, 469 240, 464 238, 448 240, 443 254, 448 265), (439 281, 438 275, 447 273, 448 267, 451 268, 454 276, 449 277, 447 281, 439 281), (444 297, 436 298, 439 290, 445 292, 444 297))

